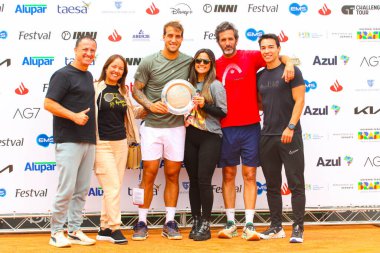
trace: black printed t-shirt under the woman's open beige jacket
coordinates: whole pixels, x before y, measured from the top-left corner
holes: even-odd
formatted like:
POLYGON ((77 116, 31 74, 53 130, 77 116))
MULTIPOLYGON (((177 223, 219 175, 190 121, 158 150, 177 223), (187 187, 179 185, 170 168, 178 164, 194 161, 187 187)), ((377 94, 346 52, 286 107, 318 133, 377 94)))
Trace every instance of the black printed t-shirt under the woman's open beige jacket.
POLYGON ((99 139, 104 141, 123 140, 126 136, 124 115, 127 103, 117 85, 107 85, 98 99, 99 139))

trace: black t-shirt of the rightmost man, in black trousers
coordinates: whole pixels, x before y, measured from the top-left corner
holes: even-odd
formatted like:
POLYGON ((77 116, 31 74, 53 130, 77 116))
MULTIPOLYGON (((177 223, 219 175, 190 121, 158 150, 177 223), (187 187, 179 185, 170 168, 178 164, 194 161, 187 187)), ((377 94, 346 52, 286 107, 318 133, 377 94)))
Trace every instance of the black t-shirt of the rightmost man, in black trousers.
MULTIPOLYGON (((302 73, 294 67, 294 79, 286 83, 281 78, 285 65, 274 69, 263 69, 257 76, 257 88, 262 97, 264 124, 262 135, 282 135, 292 117, 294 100, 292 88, 305 85, 302 73)), ((294 133, 301 133, 301 123, 298 121, 294 133)))

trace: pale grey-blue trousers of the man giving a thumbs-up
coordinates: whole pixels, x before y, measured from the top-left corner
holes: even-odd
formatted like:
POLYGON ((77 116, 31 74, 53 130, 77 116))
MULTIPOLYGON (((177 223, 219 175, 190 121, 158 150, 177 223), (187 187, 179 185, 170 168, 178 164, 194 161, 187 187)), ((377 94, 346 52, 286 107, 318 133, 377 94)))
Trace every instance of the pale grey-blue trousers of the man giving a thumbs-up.
POLYGON ((59 179, 52 210, 52 234, 62 231, 66 220, 70 232, 78 230, 82 224, 82 210, 94 168, 95 145, 57 143, 55 160, 59 179))

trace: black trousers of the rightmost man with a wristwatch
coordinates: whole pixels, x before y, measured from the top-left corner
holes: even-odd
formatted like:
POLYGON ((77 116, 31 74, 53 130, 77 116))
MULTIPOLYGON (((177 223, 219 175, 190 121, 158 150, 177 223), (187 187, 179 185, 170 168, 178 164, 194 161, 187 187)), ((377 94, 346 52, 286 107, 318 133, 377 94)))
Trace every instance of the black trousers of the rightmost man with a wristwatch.
POLYGON ((306 196, 305 160, 301 134, 294 134, 289 144, 281 143, 281 136, 261 136, 260 159, 267 184, 271 226, 281 226, 282 223, 281 171, 284 165, 292 194, 294 225, 303 227, 306 196))

